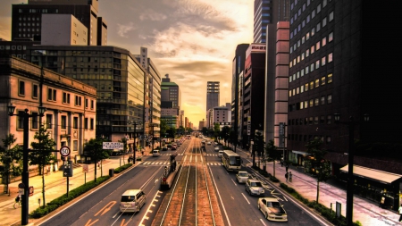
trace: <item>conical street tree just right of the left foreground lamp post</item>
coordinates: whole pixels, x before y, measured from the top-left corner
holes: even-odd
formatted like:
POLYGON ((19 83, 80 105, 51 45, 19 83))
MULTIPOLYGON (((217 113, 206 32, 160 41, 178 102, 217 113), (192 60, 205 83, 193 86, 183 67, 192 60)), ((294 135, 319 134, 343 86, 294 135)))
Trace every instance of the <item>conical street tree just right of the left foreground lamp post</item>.
POLYGON ((40 126, 39 130, 35 133, 34 139, 38 142, 31 142, 32 151, 29 152, 30 164, 37 164, 39 175, 42 175, 42 201, 43 206, 46 205, 45 200, 45 167, 48 164, 57 161, 53 155, 56 150, 54 149, 56 143, 53 138, 50 138, 49 132, 44 126, 40 126))

